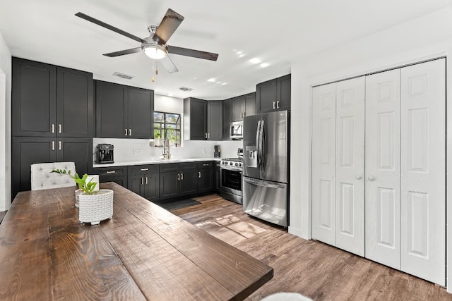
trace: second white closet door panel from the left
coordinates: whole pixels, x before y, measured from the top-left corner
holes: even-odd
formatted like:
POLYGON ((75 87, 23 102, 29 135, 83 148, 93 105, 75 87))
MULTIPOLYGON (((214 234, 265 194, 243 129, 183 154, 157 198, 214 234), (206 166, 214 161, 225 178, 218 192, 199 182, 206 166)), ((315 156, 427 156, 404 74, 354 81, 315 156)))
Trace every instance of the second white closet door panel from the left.
POLYGON ((364 76, 336 84, 335 246, 364 256, 364 76))

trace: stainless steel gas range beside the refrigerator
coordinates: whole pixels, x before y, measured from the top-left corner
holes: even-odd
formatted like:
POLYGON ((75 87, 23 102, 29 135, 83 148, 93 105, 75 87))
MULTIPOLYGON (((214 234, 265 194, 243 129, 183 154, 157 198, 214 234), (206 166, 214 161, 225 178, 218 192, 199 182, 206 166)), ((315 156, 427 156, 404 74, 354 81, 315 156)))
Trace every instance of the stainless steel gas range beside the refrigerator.
MULTIPOLYGON (((243 149, 239 149, 239 156, 243 149)), ((242 204, 243 157, 225 158, 220 161, 220 195, 224 199, 242 204)))

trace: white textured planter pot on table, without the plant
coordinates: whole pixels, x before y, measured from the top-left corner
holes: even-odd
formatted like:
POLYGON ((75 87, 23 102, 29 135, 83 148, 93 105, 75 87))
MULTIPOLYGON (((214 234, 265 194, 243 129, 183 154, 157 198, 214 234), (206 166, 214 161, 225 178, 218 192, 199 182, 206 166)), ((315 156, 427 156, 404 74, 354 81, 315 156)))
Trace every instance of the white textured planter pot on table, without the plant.
POLYGON ((113 190, 101 189, 95 195, 78 195, 78 219, 97 225, 113 216, 113 190))

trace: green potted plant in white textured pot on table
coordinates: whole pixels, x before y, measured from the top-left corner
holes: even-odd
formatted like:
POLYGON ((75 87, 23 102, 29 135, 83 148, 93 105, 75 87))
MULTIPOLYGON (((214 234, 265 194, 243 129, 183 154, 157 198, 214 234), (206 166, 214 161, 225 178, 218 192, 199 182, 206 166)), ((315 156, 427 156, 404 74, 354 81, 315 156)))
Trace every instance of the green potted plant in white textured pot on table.
POLYGON ((67 175, 76 182, 76 207, 78 207, 78 220, 81 223, 91 223, 97 225, 100 221, 111 219, 113 216, 113 190, 97 190, 97 182, 90 176, 84 174, 82 178, 78 173, 71 175, 71 171, 65 169, 54 169, 52 173, 67 175))

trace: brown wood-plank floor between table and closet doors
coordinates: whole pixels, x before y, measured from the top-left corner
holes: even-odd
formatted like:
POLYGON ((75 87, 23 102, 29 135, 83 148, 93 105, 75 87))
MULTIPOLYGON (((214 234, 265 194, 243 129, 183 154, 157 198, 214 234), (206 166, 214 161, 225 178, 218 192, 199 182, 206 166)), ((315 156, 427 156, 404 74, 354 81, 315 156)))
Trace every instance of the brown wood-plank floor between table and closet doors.
POLYGON ((242 212, 219 195, 172 213, 274 269, 273 279, 248 300, 277 292, 313 300, 452 300, 445 288, 323 242, 304 240, 242 212))

